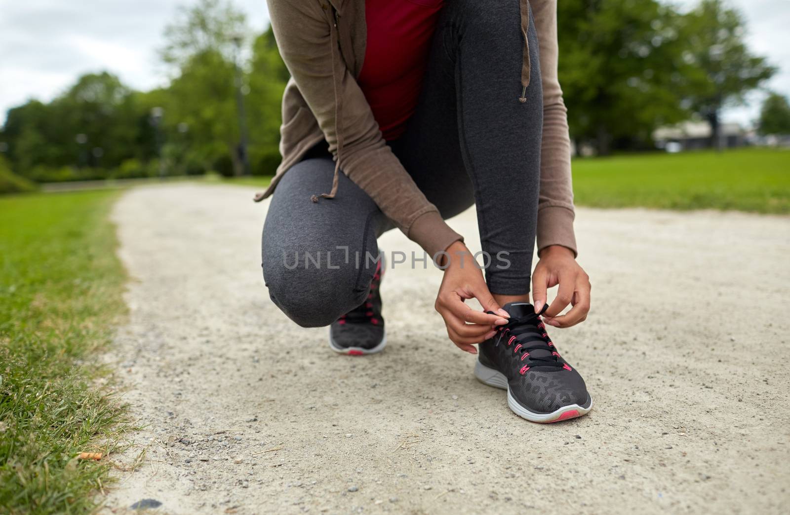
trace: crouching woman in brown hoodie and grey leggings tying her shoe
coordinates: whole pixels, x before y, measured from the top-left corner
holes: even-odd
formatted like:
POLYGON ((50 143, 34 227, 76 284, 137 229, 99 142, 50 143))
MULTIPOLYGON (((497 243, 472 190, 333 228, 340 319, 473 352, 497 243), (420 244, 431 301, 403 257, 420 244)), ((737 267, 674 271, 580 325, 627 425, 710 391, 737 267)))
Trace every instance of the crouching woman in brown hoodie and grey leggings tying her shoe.
POLYGON ((435 307, 458 348, 480 344, 480 381, 535 422, 589 412, 544 326, 583 321, 590 291, 575 261, 556 1, 269 0, 269 14, 292 74, 283 161, 256 197, 276 187, 262 251, 273 302, 303 327, 331 325, 336 351, 380 351, 384 267, 366 257, 398 227, 444 270, 435 307), (472 204, 496 257, 485 280, 444 222, 472 204))

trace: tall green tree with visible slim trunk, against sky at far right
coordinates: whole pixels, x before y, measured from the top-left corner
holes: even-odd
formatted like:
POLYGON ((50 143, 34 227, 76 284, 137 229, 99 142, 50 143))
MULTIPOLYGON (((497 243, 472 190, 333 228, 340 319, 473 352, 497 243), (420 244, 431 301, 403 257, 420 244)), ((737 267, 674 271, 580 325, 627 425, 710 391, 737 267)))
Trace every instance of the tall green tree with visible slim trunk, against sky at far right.
POLYGON ((711 146, 721 148, 721 108, 743 103, 745 94, 772 77, 776 68, 751 54, 743 41, 743 16, 721 0, 702 0, 686 21, 686 101, 709 122, 711 146))

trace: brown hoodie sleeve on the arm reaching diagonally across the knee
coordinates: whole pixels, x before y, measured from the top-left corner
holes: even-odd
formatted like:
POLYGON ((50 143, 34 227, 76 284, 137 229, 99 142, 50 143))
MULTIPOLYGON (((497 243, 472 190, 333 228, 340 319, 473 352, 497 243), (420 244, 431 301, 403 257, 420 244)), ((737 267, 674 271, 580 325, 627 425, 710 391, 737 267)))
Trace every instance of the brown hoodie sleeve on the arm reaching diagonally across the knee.
MULTIPOLYGON (((340 57, 332 6, 316 0, 268 0, 268 4, 280 55, 340 170, 431 256, 462 239, 386 145, 370 105, 340 57), (337 133, 342 139, 340 152, 337 133)), ((342 24, 340 18, 340 31, 342 24)))

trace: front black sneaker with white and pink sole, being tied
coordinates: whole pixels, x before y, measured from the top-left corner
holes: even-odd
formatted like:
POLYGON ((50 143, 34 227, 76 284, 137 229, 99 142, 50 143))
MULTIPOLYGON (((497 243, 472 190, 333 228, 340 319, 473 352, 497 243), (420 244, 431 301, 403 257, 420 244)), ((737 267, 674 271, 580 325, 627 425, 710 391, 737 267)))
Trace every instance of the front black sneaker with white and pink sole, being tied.
MULTIPOLYGON (((547 306, 541 310, 544 314, 547 306)), ((532 422, 559 422, 592 408, 585 380, 557 352, 529 303, 507 303, 506 325, 480 344, 475 376, 507 390, 507 405, 532 422)))

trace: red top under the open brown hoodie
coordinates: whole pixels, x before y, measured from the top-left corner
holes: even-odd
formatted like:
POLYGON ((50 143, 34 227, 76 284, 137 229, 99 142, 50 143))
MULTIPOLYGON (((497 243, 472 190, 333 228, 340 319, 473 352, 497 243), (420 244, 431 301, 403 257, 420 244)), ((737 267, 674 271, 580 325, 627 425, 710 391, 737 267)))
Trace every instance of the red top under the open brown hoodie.
POLYGON ((387 141, 401 136, 417 106, 443 3, 365 0, 367 48, 357 82, 387 141))

